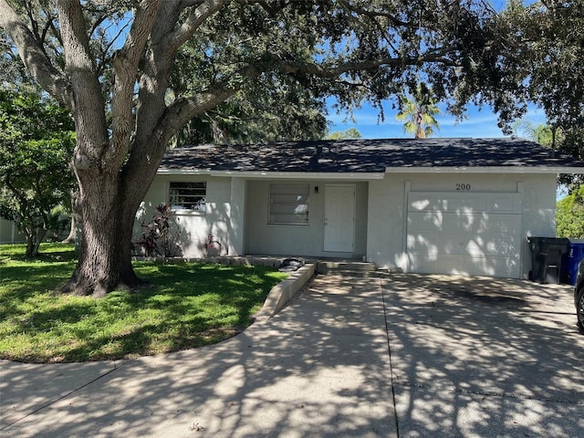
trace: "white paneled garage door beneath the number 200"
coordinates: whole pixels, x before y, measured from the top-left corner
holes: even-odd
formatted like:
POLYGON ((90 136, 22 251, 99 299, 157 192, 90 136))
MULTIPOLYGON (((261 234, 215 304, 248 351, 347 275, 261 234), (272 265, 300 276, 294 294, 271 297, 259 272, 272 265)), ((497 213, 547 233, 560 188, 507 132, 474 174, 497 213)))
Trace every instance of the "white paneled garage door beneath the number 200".
POLYGON ((521 193, 410 192, 410 272, 521 276, 521 193))

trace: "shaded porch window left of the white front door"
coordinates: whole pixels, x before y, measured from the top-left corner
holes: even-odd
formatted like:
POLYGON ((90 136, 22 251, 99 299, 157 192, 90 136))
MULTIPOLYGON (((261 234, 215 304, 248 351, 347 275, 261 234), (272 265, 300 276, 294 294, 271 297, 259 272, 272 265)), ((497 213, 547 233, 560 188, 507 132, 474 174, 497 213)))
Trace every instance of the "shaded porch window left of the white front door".
POLYGON ((268 224, 308 225, 309 184, 270 184, 268 224))

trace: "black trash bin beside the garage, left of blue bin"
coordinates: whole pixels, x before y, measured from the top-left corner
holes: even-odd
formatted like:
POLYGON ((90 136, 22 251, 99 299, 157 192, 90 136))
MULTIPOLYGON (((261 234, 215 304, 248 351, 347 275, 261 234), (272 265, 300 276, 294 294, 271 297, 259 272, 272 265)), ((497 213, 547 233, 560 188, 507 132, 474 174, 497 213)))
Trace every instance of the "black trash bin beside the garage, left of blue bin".
POLYGON ((529 279, 538 283, 565 281, 569 240, 564 237, 527 237, 531 250, 529 279))

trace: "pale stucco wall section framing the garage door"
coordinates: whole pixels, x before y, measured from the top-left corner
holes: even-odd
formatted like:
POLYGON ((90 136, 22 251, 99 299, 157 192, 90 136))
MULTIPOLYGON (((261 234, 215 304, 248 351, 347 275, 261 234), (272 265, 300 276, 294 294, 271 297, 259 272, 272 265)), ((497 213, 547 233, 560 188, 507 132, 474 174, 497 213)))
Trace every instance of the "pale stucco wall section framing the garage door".
POLYGON ((454 192, 456 184, 470 184, 474 192, 523 192, 524 276, 531 267, 528 235, 556 235, 556 175, 496 173, 388 173, 369 186, 367 258, 378 266, 404 269, 407 190, 454 192))

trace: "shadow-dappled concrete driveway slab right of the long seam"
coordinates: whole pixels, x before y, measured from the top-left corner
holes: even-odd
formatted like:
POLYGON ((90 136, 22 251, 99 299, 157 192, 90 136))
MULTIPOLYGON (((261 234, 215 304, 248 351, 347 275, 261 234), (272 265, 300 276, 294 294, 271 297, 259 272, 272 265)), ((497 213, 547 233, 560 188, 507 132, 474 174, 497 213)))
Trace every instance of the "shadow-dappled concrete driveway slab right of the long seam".
POLYGON ((401 437, 582 436, 571 287, 400 275, 384 297, 401 437))

